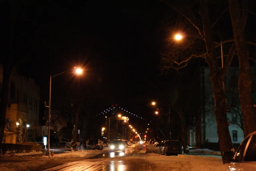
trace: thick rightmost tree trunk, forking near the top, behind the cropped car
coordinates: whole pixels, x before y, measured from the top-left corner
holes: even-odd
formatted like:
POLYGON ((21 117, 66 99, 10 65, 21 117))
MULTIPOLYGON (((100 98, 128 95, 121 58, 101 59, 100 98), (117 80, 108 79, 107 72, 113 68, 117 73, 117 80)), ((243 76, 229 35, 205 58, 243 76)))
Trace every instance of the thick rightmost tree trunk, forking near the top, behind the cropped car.
POLYGON ((244 119, 245 136, 256 131, 256 115, 252 99, 252 77, 249 50, 245 41, 244 28, 247 20, 247 1, 243 0, 243 15, 240 17, 238 0, 229 0, 230 17, 239 60, 238 91, 244 119))

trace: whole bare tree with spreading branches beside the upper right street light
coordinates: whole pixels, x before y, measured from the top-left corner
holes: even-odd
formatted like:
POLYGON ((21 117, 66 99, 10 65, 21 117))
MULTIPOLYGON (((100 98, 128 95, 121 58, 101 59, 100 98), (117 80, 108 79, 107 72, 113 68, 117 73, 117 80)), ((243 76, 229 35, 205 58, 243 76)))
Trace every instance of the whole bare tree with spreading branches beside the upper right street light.
MULTIPOLYGON (((181 16, 186 18, 187 21, 198 31, 198 36, 193 36, 193 38, 191 38, 192 40, 190 40, 189 43, 187 43, 187 46, 185 46, 183 49, 176 48, 174 51, 169 50, 165 53, 163 63, 167 65, 164 65, 163 69, 168 70, 169 68, 179 69, 181 67, 185 67, 187 65, 187 61, 195 57, 205 59, 209 65, 210 81, 213 87, 213 97, 215 102, 214 113, 217 123, 217 134, 220 142, 221 152, 223 153, 225 151, 234 151, 227 125, 226 97, 223 89, 223 81, 236 52, 235 43, 231 45, 229 53, 226 57, 226 62, 223 68, 220 69, 218 65, 218 56, 215 49, 220 44, 214 43, 212 33, 212 27, 215 25, 218 19, 214 24, 210 23, 208 1, 200 0, 199 4, 197 4, 197 1, 191 2, 185 0, 181 3, 178 3, 178 1, 174 2, 168 0, 160 1, 166 3, 172 9, 177 11, 181 16), (192 8, 195 5, 199 5, 200 8, 199 11, 194 10, 195 12, 193 13, 192 8), (202 47, 202 45, 204 45, 202 41, 205 43, 205 52, 204 47, 202 47), (201 50, 198 47, 194 47, 193 45, 200 45, 199 47, 201 47, 201 50), (188 47, 190 47, 189 50, 184 50, 188 47)), ((219 14, 219 16, 221 15, 222 14, 219 14)), ((232 42, 233 40, 227 40, 226 42, 230 41, 232 42)), ((228 161, 223 159, 223 162, 226 163, 228 161)))

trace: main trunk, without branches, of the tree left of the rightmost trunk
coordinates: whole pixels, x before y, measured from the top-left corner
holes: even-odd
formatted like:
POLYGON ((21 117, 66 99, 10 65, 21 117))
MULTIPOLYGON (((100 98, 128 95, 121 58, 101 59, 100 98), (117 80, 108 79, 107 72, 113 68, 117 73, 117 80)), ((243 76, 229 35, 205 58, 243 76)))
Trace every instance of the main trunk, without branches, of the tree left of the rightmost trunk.
MULTIPOLYGON (((234 151, 231 137, 227 126, 227 115, 226 115, 226 98, 223 90, 224 77, 220 75, 220 69, 217 61, 215 47, 212 38, 211 26, 209 21, 208 13, 208 2, 207 0, 201 0, 200 2, 200 15, 203 23, 204 40, 207 48, 207 63, 209 64, 209 75, 213 88, 213 98, 215 102, 215 118, 217 124, 217 134, 219 138, 221 154, 225 151, 234 151)), ((224 159, 223 163, 227 163, 224 159)))

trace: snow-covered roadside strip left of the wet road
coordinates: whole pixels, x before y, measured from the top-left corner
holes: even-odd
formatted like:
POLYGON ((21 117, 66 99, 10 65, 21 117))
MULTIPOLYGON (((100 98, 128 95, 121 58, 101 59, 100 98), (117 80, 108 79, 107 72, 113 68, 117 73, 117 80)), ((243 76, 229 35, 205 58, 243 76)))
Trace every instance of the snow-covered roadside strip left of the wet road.
POLYGON ((77 159, 86 159, 101 153, 105 153, 108 149, 104 148, 101 150, 78 150, 78 151, 67 151, 62 154, 54 154, 53 157, 31 157, 31 156, 17 156, 17 155, 1 155, 1 167, 0 171, 22 171, 28 170, 31 166, 40 167, 53 160, 66 160, 74 161, 77 159))

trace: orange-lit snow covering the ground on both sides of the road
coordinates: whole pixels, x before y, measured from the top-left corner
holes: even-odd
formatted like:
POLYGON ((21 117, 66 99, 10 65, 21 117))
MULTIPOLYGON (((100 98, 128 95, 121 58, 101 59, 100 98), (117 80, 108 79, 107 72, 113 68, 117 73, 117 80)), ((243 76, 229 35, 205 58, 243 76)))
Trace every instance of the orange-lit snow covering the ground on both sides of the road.
MULTIPOLYGON (((147 145, 148 149, 156 150, 158 147, 147 145)), ((96 163, 111 163, 113 160, 123 161, 136 161, 144 160, 151 163, 154 171, 172 170, 172 171, 226 171, 228 164, 223 165, 221 158, 216 157, 204 157, 195 155, 178 155, 178 156, 164 156, 156 153, 136 154, 136 155, 124 155, 118 158, 104 158, 84 160, 89 157, 107 152, 109 148, 100 150, 78 150, 75 152, 67 151, 62 154, 54 154, 53 157, 30 157, 30 156, 17 156, 17 155, 1 155, 0 171, 24 171, 38 167, 40 169, 47 169, 49 165, 54 167, 56 163, 64 164, 68 162, 76 162, 78 165, 86 165, 87 163, 95 161, 96 163), (79 162, 81 161, 81 162, 79 162), (54 165, 55 164, 55 165, 54 165)), ((190 149, 191 150, 191 149, 190 149)), ((194 149, 195 150, 195 149, 194 149)), ((207 149, 196 149, 212 152, 207 149)), ((59 165, 58 164, 58 165, 59 165)), ((93 163, 92 163, 93 164, 93 163)), ((68 164, 70 165, 70 164, 68 164)), ((72 164, 71 164, 72 165, 72 164)))

